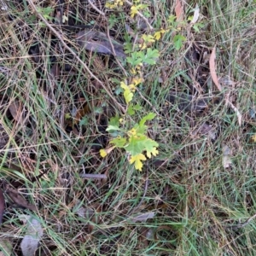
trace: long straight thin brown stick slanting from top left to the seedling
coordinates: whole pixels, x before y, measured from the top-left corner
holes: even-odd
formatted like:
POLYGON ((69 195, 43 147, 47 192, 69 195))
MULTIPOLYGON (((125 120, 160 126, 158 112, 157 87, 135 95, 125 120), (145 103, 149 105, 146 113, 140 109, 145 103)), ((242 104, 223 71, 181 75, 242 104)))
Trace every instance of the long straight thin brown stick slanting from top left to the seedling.
POLYGON ((55 30, 55 28, 53 26, 51 26, 49 24, 49 22, 47 20, 44 19, 44 16, 41 15, 40 13, 38 13, 38 10, 36 8, 36 6, 34 5, 34 3, 32 2, 32 0, 28 0, 28 3, 31 5, 32 7, 32 10, 34 11, 34 13, 36 15, 38 15, 38 17, 44 21, 45 25, 48 26, 49 30, 51 32, 53 32, 55 34, 55 36, 61 41, 61 44, 63 44, 63 46, 75 57, 75 59, 77 61, 79 61, 79 63, 84 67, 84 69, 90 74, 90 77, 93 78, 93 79, 96 79, 96 81, 102 85, 102 88, 104 90, 106 90, 106 92, 108 93, 108 96, 110 96, 110 98, 113 100, 113 102, 115 102, 115 104, 117 104, 119 106, 119 108, 122 110, 123 113, 125 113, 125 108, 123 108, 119 102, 117 102, 117 100, 113 97, 112 93, 108 91, 108 88, 103 84, 103 82, 98 79, 96 77, 96 75, 94 73, 92 73, 89 69, 89 67, 84 63, 84 61, 82 61, 79 56, 73 51, 73 49, 71 49, 65 42, 64 40, 61 38, 61 34, 59 32, 57 32, 55 30))

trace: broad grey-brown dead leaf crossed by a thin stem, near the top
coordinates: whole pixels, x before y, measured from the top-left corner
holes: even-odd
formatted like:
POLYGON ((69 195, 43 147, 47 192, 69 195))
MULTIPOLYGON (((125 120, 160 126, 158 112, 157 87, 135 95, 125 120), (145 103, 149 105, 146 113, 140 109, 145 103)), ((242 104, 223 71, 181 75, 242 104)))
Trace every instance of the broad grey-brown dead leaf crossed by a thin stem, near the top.
POLYGON ((84 30, 76 34, 76 39, 78 44, 84 49, 105 55, 114 55, 114 49, 117 57, 125 58, 126 56, 123 49, 123 44, 120 44, 114 38, 111 38, 110 43, 108 36, 103 32, 84 30))

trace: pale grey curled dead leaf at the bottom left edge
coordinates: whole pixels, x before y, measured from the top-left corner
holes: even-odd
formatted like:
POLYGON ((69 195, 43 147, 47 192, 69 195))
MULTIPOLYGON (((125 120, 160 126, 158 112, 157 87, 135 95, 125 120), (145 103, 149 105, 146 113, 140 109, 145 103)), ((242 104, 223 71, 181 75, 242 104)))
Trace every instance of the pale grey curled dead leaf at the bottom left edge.
POLYGON ((38 243, 43 236, 43 228, 37 219, 29 215, 20 215, 20 220, 26 224, 26 235, 23 237, 20 248, 24 256, 35 255, 38 243))

